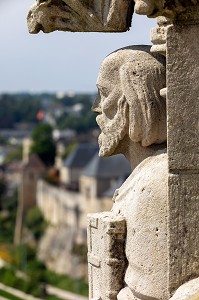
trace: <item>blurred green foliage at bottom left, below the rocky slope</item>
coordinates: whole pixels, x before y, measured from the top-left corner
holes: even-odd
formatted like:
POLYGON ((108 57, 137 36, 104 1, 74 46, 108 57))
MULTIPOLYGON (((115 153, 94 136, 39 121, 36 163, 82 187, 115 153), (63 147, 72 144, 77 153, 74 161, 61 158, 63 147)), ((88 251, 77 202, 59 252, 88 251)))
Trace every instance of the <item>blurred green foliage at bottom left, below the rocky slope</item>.
MULTIPOLYGON (((35 297, 43 296, 45 284, 88 296, 88 285, 83 279, 72 279, 67 275, 59 275, 46 270, 44 264, 36 259, 34 250, 27 245, 21 245, 18 247, 18 251, 26 253, 26 277, 25 279, 17 277, 16 266, 4 267, 0 272, 0 281, 5 285, 12 286, 35 297), (24 251, 24 247, 26 251, 24 251)), ((43 296, 43 298, 49 300, 58 299, 55 296, 43 296)))

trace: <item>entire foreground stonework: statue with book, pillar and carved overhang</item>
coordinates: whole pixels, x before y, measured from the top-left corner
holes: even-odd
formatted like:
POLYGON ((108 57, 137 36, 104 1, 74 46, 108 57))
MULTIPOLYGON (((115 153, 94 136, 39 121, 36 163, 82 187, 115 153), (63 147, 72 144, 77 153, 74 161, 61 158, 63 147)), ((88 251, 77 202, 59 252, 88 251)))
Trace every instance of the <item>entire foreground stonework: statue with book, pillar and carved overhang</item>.
POLYGON ((88 216, 89 299, 199 300, 199 1, 37 0, 28 26, 121 32, 133 12, 158 27, 152 47, 100 67, 99 154, 124 154, 132 173, 110 212, 88 216))

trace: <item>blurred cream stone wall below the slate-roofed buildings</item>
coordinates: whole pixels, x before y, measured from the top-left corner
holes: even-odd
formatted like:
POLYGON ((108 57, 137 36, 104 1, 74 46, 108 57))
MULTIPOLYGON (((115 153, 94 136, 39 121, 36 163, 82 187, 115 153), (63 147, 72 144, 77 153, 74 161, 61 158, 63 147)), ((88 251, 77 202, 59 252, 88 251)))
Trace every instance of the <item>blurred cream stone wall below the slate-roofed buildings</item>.
POLYGON ((96 180, 91 178, 90 180, 83 178, 80 193, 67 191, 62 187, 55 187, 39 180, 37 205, 48 223, 54 226, 65 224, 73 227, 80 233, 81 239, 81 232, 85 232, 87 228, 87 214, 107 211, 112 207, 111 199, 98 199, 95 191, 96 180))

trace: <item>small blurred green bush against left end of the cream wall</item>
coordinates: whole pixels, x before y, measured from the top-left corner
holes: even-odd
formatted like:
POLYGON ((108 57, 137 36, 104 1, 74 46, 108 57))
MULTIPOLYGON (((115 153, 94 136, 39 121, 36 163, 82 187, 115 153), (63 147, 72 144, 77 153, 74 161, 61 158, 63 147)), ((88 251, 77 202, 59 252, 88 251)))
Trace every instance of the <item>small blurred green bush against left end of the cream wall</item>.
POLYGON ((37 206, 28 211, 25 218, 25 225, 32 231, 37 241, 44 234, 47 223, 45 222, 43 215, 37 206))

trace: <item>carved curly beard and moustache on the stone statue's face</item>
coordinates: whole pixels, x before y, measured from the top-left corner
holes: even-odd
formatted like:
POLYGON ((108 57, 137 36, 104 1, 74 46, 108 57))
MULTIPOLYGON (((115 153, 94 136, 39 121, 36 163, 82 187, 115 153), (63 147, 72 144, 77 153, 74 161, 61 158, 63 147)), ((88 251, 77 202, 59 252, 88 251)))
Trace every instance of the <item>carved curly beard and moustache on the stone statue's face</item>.
POLYGON ((124 96, 118 101, 117 113, 109 119, 104 113, 97 116, 96 121, 102 130, 98 138, 99 156, 106 157, 118 154, 117 147, 127 132, 127 102, 124 96))

